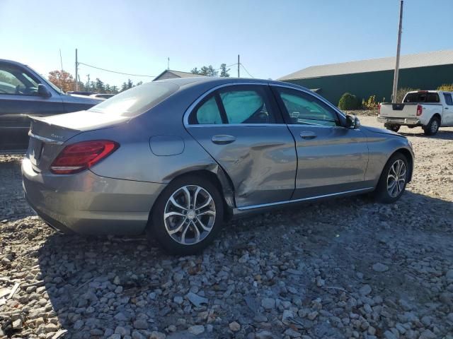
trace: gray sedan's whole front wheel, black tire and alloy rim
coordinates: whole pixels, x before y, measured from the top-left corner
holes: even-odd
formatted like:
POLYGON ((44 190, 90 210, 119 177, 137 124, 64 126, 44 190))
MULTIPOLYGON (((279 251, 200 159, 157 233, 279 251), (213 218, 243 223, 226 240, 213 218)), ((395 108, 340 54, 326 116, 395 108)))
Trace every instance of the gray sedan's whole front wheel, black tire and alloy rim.
POLYGON ((382 170, 381 177, 374 191, 379 203, 394 203, 404 190, 409 177, 408 160, 401 153, 392 155, 382 170))

